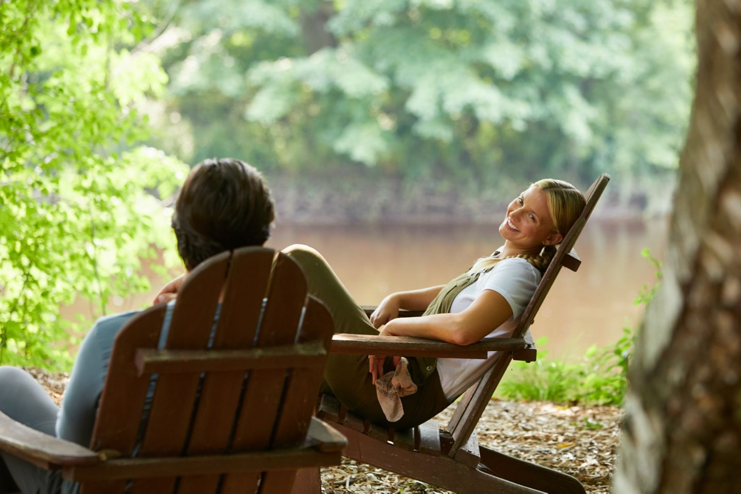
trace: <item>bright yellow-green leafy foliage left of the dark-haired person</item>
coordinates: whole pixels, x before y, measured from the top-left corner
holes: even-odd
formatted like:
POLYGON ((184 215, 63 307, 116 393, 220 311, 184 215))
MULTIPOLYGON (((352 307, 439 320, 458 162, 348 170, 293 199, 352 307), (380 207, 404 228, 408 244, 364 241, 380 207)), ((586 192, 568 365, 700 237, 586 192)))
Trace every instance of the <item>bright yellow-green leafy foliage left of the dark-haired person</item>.
POLYGON ((124 0, 0 2, 0 364, 66 367, 59 306, 147 287, 171 243, 160 199, 187 167, 148 147, 137 104, 162 94, 153 25, 124 0))

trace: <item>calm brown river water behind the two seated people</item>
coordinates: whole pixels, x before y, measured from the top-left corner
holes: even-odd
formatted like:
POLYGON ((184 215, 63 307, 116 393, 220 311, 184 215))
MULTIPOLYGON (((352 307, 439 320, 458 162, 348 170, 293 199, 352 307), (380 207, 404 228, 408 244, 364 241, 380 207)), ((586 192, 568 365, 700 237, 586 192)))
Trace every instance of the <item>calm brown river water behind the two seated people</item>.
MULTIPOLYGON (((592 344, 611 344, 623 327, 636 327, 644 308, 634 298, 655 281, 654 267, 641 256, 648 247, 663 257, 664 221, 593 218, 576 244, 579 271, 562 270, 535 323, 534 337, 548 337, 539 350, 548 356, 576 360, 592 344)), ((359 304, 377 304, 388 293, 445 284, 476 258, 502 243, 494 225, 357 225, 308 227, 279 224, 269 247, 308 244, 319 250, 359 304)), ((164 280, 152 276, 153 290, 113 298, 109 313, 149 304, 164 280)), ((78 301, 62 316, 90 317, 91 307, 78 301)))

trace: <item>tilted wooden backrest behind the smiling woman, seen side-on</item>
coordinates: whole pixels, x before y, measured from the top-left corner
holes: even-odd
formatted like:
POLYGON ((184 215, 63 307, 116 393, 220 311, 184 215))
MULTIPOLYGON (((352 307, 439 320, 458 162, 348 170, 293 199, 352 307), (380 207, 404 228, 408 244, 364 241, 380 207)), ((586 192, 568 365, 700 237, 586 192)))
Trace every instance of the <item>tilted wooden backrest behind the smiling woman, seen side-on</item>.
MULTIPOLYGON (((599 201, 599 197, 602 196, 602 191, 607 187, 608 181, 610 181, 610 176, 603 173, 589 187, 589 190, 585 194, 587 203, 581 216, 579 216, 571 227, 571 230, 568 231, 561 244, 559 244, 556 255, 551 260, 548 269, 545 270, 540 284, 533 294, 533 298, 531 298, 528 307, 525 308, 525 312, 522 314, 519 324, 514 330, 513 338, 519 338, 528 331, 540 305, 545 300, 545 296, 548 295, 548 290, 551 290, 551 285, 556 280, 561 267, 567 266, 574 271, 579 267, 579 261, 576 261, 576 258, 571 255, 571 250, 576 243, 576 238, 579 238, 579 234, 582 233, 582 229, 594 210, 594 206, 599 201)), ((448 431, 453 435, 453 446, 450 453, 448 453, 451 458, 456 455, 460 447, 466 444, 471 433, 473 433, 473 429, 476 427, 482 413, 484 413, 484 409, 491 399, 491 395, 494 394, 494 390, 496 390, 496 386, 502 379, 502 375, 505 373, 511 360, 511 352, 504 353, 500 356, 496 364, 482 375, 482 378, 476 384, 473 384, 461 398, 458 407, 456 407, 456 412, 453 413, 453 417, 448 423, 448 431)))

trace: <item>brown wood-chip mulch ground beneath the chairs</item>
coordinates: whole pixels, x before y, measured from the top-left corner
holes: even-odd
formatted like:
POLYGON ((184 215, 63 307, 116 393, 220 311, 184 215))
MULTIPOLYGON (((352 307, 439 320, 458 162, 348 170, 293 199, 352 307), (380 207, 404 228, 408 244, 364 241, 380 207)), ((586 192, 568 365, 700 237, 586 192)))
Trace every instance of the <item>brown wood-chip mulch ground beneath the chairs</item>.
MULTIPOLYGON (((27 368, 57 404, 68 376, 27 368)), ((438 415, 446 424, 453 407, 438 415)), ((610 492, 622 410, 618 407, 562 406, 548 401, 492 400, 479 421, 479 443, 500 453, 578 478, 588 493, 610 492)), ((429 484, 371 465, 343 459, 322 469, 325 493, 448 493, 429 484)))

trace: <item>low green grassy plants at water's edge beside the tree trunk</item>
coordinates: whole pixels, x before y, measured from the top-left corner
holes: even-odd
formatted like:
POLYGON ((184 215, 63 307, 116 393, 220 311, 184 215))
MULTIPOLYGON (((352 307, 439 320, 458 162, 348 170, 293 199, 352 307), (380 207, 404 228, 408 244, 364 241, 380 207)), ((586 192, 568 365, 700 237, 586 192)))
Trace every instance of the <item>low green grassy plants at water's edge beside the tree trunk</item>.
MULTIPOLYGON (((661 262, 648 249, 642 250, 641 255, 656 268, 657 283, 650 290, 644 285, 636 298, 637 305, 651 301, 662 277, 661 262)), ((548 352, 542 350, 548 338, 539 338, 538 359, 531 364, 514 362, 497 393, 509 399, 620 405, 628 388, 628 364, 635 343, 633 330, 625 327, 622 332, 614 344, 592 345, 576 364, 548 360, 548 352)))

